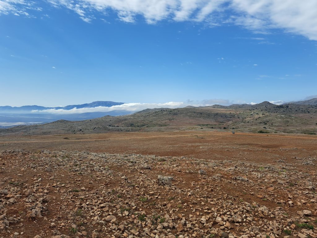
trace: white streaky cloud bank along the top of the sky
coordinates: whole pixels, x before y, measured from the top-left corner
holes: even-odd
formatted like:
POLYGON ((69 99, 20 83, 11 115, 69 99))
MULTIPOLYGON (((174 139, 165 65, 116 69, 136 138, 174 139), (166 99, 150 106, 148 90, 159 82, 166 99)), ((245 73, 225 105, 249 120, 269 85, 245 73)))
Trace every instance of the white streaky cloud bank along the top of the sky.
MULTIPOLYGON (((271 29, 303 35, 317 40, 316 0, 47 0, 56 8, 74 11, 86 22, 95 13, 107 15, 115 11, 118 19, 135 23, 143 16, 147 23, 162 20, 204 22, 210 26, 234 24, 258 33, 271 29)), ((0 0, 0 15, 28 14, 36 8, 30 0, 0 0)))

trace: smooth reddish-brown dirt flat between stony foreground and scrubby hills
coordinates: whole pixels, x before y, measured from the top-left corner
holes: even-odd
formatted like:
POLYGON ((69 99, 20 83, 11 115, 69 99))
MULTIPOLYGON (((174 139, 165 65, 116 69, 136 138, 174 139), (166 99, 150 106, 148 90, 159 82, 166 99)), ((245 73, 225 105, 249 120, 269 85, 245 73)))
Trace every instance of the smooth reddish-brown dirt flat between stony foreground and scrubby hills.
POLYGON ((10 149, 135 153, 271 162, 275 158, 315 156, 317 136, 231 132, 126 132, 0 137, 0 150, 10 149))

